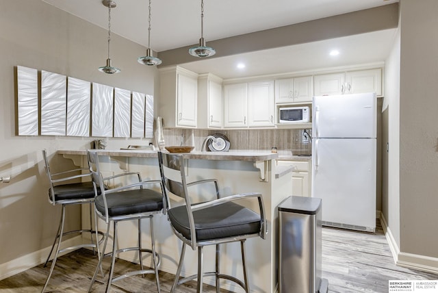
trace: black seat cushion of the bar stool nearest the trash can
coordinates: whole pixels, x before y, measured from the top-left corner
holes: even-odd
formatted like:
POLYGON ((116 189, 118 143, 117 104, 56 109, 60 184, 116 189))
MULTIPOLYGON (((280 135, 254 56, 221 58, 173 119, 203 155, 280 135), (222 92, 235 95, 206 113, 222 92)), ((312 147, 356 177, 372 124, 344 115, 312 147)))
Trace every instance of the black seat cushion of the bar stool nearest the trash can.
MULTIPOLYGON (((185 205, 168 211, 172 226, 186 239, 191 239, 190 225, 185 205)), ((196 241, 229 238, 237 235, 259 233, 260 215, 237 203, 226 202, 193 212, 196 241)))

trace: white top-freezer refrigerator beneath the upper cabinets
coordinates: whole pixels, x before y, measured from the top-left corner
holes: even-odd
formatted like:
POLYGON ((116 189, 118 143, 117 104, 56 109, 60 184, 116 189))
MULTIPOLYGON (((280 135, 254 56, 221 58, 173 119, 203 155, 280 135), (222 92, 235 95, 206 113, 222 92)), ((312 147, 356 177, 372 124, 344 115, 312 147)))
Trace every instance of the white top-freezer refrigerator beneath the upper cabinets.
POLYGON ((313 97, 311 194, 322 225, 376 229, 376 94, 313 97))

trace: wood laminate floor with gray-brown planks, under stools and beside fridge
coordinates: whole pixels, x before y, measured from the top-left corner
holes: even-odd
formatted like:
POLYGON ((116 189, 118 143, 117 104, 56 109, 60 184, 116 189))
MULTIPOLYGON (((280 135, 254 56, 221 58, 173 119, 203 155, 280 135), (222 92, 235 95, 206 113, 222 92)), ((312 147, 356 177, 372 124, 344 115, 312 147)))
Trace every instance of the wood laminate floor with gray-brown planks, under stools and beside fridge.
MULTIPOLYGON (((46 292, 86 292, 96 264, 96 257, 86 249, 60 257, 46 292)), ((135 268, 136 265, 118 260, 115 273, 126 271, 129 267, 135 268)), ((103 268, 107 268, 107 264, 103 268)), ((438 275, 396 266, 383 230, 379 226, 376 233, 324 227, 322 270, 322 277, 328 279, 331 293, 386 293, 390 279, 438 280, 438 275)), ((0 281, 0 293, 40 292, 48 272, 49 266, 43 268, 40 265, 3 279, 0 281)), ((159 279, 163 293, 170 292, 173 277, 169 273, 160 272, 159 279)), ((93 292, 104 292, 102 278, 98 279, 99 281, 94 283, 93 292)), ((153 275, 146 275, 144 278, 131 277, 116 284, 118 287, 114 286, 112 292, 157 292, 153 275)), ((177 292, 196 292, 196 282, 179 286, 177 292)), ((204 292, 216 292, 216 290, 204 285, 204 292)))

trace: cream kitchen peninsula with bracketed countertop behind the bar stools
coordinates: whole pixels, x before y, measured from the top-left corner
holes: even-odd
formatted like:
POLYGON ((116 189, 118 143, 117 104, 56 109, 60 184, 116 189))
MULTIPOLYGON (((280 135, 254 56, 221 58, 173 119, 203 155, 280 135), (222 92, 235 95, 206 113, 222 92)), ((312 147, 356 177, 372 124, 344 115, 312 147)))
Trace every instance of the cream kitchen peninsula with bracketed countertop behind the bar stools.
MULTIPOLYGON (((105 174, 112 175, 131 171, 138 171, 143 179, 159 179, 157 151, 144 150, 98 150, 99 161, 105 174)), ((87 166, 86 150, 59 150, 58 155, 73 160, 77 166, 87 166)), ((250 238, 246 240, 246 266, 248 279, 253 293, 276 292, 277 288, 277 206, 283 199, 292 195, 292 168, 276 166, 278 153, 270 151, 229 151, 184 153, 188 159, 187 181, 215 178, 218 180, 220 196, 259 192, 263 196, 268 233, 266 238, 250 238)), ((156 186, 159 190, 159 186, 156 186)), ((202 196, 205 190, 194 187, 194 196, 202 196)), ((242 204, 258 211, 257 203, 243 202, 242 204)), ((85 207, 84 207, 85 208, 85 207)), ((87 212, 83 212, 82 222, 85 227, 88 223, 87 212)), ((175 274, 181 251, 181 241, 173 234, 166 215, 158 214, 154 217, 154 231, 157 251, 162 255, 159 270, 175 274)), ((136 224, 134 222, 120 223, 120 239, 125 242, 136 241, 136 224), (122 227, 123 225, 123 227, 122 227)), ((99 229, 105 225, 99 221, 99 229)), ((147 225, 144 225, 147 227, 147 225)), ((145 246, 150 246, 149 229, 143 229, 142 237, 145 246)), ((108 244, 110 245, 110 244, 108 244)), ((221 271, 228 272, 239 279, 243 279, 240 245, 236 243, 223 244, 221 254, 221 271)), ((196 251, 188 249, 186 259, 194 262, 185 262, 181 275, 193 275, 197 271, 196 251)), ((135 253, 125 257, 130 262, 138 262, 135 253)), ((214 268, 214 247, 205 249, 205 271, 214 268)), ((147 259, 146 259, 147 260, 147 259)), ((214 279, 205 278, 205 283, 214 285, 214 279)), ((221 282, 221 287, 231 292, 242 292, 239 286, 227 281, 221 282)))

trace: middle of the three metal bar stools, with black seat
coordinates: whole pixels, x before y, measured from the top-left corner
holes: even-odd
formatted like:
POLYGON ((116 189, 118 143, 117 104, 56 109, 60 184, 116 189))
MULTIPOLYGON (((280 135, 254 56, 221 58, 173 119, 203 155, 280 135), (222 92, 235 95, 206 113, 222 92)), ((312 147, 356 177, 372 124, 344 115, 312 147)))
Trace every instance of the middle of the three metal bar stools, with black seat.
POLYGON ((157 192, 152 189, 144 188, 144 185, 155 184, 159 185, 161 188, 160 180, 150 180, 142 181, 140 173, 138 172, 127 172, 118 175, 113 175, 110 177, 103 177, 101 172, 101 167, 99 166, 99 154, 97 151, 88 151, 88 165, 90 166, 90 172, 92 174, 94 190, 96 192, 96 199, 94 200, 94 207, 96 214, 102 220, 105 220, 107 224, 107 231, 105 233, 105 240, 103 244, 103 249, 101 251, 101 257, 99 258, 99 264, 94 271, 94 276, 92 277, 90 287, 88 292, 92 289, 94 281, 96 281, 96 276, 99 268, 101 268, 103 257, 105 256, 105 249, 107 246, 108 238, 110 237, 110 224, 113 222, 113 244, 112 252, 109 255, 112 256, 110 275, 108 277, 107 286, 105 292, 108 292, 111 288, 112 282, 124 279, 125 277, 131 277, 133 275, 144 275, 144 274, 155 274, 155 281, 157 283, 157 290, 160 291, 159 286, 159 276, 158 276, 158 266, 159 266, 159 255, 155 251, 155 238, 153 234, 153 216, 154 214, 159 214, 166 211, 166 201, 161 192, 157 192), (105 181, 125 178, 128 180, 129 177, 136 177, 136 182, 123 185, 122 183, 116 185, 113 188, 105 186, 105 181), (100 191, 100 194, 99 194, 100 191), (151 225, 151 249, 142 248, 142 219, 149 218, 149 223, 151 225), (118 248, 117 247, 117 224, 124 220, 138 220, 138 245, 135 247, 118 248), (127 272, 125 275, 120 275, 113 278, 114 274, 114 264, 116 261, 116 254, 123 253, 126 251, 138 251, 140 259, 140 270, 127 272), (142 253, 151 253, 153 261, 153 269, 144 270, 142 253))

